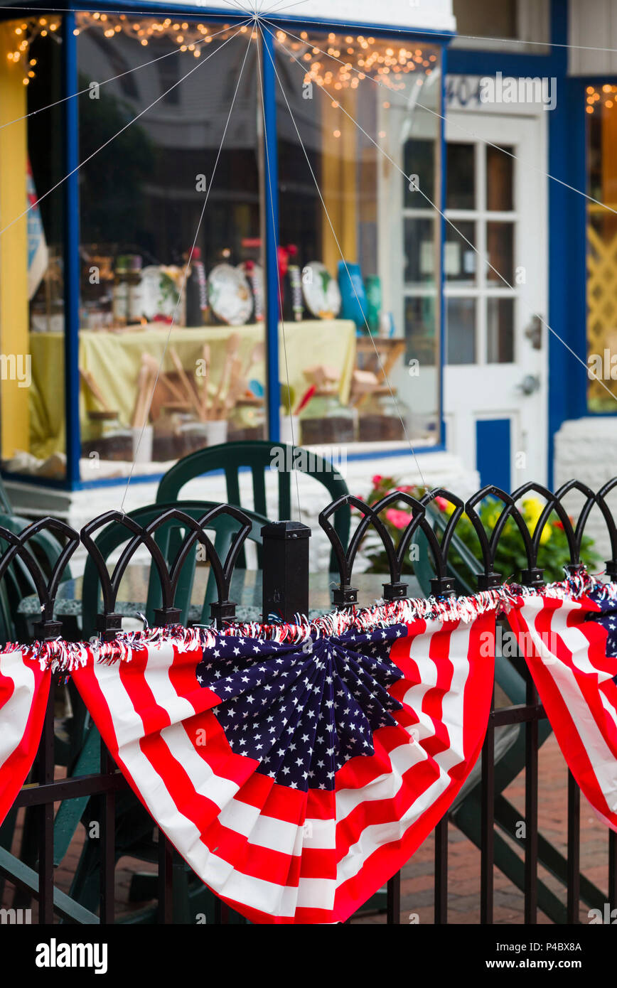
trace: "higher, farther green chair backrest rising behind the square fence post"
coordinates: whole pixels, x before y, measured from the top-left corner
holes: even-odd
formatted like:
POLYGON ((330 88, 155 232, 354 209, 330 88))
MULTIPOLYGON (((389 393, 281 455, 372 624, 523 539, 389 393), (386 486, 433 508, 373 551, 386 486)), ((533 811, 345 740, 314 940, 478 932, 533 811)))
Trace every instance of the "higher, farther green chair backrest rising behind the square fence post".
MULTIPOLYGON (((205 473, 223 470, 227 502, 242 508, 239 474, 241 470, 250 470, 254 510, 260 515, 267 515, 266 471, 272 470, 273 449, 272 443, 259 441, 225 443, 222 446, 213 446, 206 450, 190 453, 183 459, 179 459, 165 473, 158 485, 156 503, 172 504, 178 498, 184 485, 190 480, 205 473)), ((295 468, 301 473, 308 474, 322 484, 330 495, 330 501, 335 501, 337 498, 349 494, 349 488, 343 477, 329 460, 310 453, 308 450, 302 450, 299 447, 286 447, 281 443, 276 444, 276 449, 285 451, 286 464, 294 463, 295 468)), ((291 518, 292 512, 292 474, 288 469, 276 472, 279 480, 278 520, 287 521, 291 518)), ((351 510, 348 506, 336 512, 333 524, 336 534, 346 547, 351 524, 351 510)), ((330 556, 330 570, 336 571, 336 559, 333 552, 330 556)))

